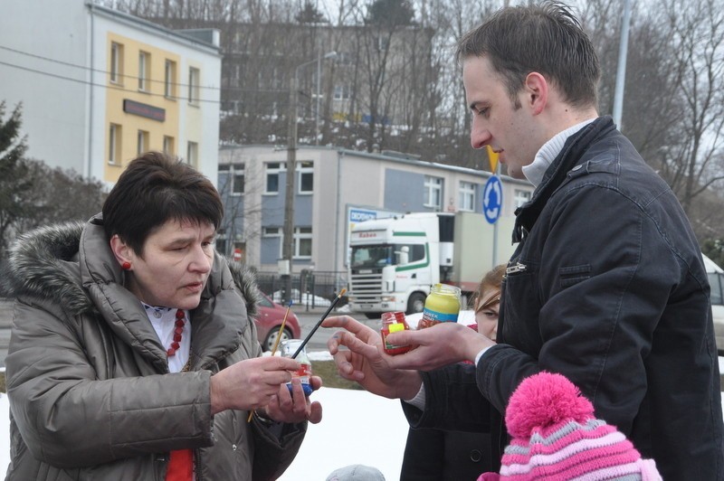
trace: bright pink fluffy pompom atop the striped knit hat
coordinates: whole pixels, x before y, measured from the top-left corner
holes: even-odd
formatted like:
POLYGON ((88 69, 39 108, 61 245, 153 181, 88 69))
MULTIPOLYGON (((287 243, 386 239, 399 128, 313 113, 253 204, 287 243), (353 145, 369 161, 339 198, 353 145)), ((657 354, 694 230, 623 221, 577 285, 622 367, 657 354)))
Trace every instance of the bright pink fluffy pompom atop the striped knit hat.
POLYGON ((505 423, 514 438, 529 438, 533 429, 568 420, 583 423, 593 415, 593 405, 573 382, 561 374, 542 372, 520 382, 510 396, 505 423))

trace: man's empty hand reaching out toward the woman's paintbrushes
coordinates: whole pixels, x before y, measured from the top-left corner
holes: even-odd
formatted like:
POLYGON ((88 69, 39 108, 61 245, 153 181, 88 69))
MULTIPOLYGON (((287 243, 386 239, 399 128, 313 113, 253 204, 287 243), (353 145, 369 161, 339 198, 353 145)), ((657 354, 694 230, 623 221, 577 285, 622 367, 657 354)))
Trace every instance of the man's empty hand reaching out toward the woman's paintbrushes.
POLYGON ((356 381, 367 391, 390 399, 412 399, 420 390, 420 374, 391 367, 390 356, 381 354, 382 338, 374 329, 350 316, 328 317, 322 327, 344 329, 327 341, 329 354, 344 379, 356 381), (340 346, 347 349, 339 349, 340 346))

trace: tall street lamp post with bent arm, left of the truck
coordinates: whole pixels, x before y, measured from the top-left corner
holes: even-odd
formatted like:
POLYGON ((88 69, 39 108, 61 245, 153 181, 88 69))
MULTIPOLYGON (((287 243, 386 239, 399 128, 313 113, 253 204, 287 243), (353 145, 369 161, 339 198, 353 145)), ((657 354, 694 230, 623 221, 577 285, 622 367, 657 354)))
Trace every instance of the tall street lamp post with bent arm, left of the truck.
MULTIPOLYGON (((282 267, 281 277, 284 279, 284 303, 291 300, 291 259, 294 256, 294 177, 296 176, 297 167, 297 117, 299 106, 299 74, 300 70, 307 65, 318 62, 318 72, 322 59, 332 59, 337 56, 337 52, 327 52, 324 56, 319 56, 313 61, 305 61, 297 65, 294 69, 294 75, 290 80, 290 109, 287 139, 287 185, 286 195, 284 197, 284 244, 281 249, 282 267)), ((319 73, 317 76, 317 84, 319 90, 319 73)), ((319 98, 318 98, 319 102, 319 98)), ((319 115, 319 114, 318 114, 319 115)))

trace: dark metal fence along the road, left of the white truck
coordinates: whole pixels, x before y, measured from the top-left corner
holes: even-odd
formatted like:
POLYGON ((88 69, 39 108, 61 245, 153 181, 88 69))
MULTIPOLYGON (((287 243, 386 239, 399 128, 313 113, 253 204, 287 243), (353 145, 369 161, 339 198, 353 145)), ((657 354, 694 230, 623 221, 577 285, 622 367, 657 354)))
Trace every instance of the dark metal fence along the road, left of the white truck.
MULTIPOLYGON (((286 304, 292 300, 296 306, 307 309, 328 307, 342 288, 347 288, 347 272, 344 271, 302 270, 301 273, 291 274, 290 292, 287 292, 287 277, 277 272, 257 272, 256 277, 262 292, 275 302, 286 304)), ((347 296, 342 296, 337 307, 344 306, 347 301, 347 296)))

